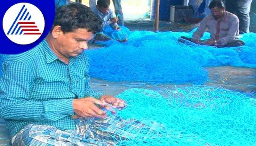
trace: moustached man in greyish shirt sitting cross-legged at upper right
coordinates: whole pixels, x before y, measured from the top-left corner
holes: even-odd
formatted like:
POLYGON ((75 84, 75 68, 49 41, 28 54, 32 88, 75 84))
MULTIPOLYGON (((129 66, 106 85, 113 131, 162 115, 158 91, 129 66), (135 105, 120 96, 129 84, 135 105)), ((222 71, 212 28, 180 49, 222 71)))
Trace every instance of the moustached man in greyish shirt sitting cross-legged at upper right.
MULTIPOLYGON (((235 14, 225 11, 225 6, 220 0, 214 0, 209 8, 212 14, 206 16, 197 30, 193 33, 193 38, 181 37, 182 39, 216 47, 242 46, 244 42, 239 40, 239 20, 235 14), (211 33, 211 38, 201 41, 206 28, 211 33)), ((181 41, 181 39, 179 39, 181 41)))

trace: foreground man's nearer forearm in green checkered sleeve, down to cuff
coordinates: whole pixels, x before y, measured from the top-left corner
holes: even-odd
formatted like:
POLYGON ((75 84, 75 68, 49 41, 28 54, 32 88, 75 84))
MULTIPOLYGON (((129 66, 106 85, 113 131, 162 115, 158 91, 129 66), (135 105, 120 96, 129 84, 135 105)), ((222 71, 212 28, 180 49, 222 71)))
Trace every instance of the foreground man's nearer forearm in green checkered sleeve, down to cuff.
POLYGON ((1 100, 0 116, 4 119, 51 122, 73 115, 73 99, 50 101, 1 100))

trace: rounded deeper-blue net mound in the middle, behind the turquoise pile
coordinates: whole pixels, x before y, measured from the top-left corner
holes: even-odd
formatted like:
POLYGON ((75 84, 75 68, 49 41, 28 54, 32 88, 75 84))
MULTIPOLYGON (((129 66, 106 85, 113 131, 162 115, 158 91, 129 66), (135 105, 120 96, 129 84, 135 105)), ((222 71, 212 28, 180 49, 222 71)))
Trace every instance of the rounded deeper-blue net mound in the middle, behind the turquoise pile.
POLYGON ((185 54, 180 54, 186 48, 180 46, 177 51, 167 46, 172 42, 155 41, 158 47, 148 43, 152 44, 146 40, 140 46, 118 43, 104 49, 89 50, 89 73, 92 77, 108 81, 195 84, 207 81, 207 70, 185 54))

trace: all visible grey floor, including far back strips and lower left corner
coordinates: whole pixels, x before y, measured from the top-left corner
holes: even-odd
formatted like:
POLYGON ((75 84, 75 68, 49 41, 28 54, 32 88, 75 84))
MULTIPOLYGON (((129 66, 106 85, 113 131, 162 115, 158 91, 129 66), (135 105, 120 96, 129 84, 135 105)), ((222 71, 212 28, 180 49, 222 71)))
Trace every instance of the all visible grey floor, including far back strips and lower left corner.
MULTIPOLYGON (((154 30, 153 21, 150 21, 149 19, 129 20, 126 21, 125 25, 131 30, 154 30)), ((196 27, 196 25, 168 22, 160 22, 159 26, 160 32, 188 32, 196 27)), ((256 91, 256 69, 230 66, 211 67, 207 69, 209 70, 210 80, 204 83, 204 85, 222 87, 245 93, 252 93, 256 91)), ((191 85, 177 85, 179 88, 184 88, 186 86, 191 85)), ((129 88, 147 88, 164 94, 165 89, 174 89, 175 86, 173 84, 152 85, 143 82, 110 82, 92 78, 92 89, 105 94, 117 95, 129 88)), ((5 128, 4 121, 0 119, 0 146, 6 145, 10 145, 10 137, 7 129, 5 128)))

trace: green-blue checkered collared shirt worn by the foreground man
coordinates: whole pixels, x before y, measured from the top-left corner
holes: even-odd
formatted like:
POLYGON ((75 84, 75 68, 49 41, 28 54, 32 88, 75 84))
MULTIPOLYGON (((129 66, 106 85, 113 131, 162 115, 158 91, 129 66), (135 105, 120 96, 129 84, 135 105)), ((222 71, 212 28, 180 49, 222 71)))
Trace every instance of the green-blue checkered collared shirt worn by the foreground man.
POLYGON ((0 78, 0 117, 11 136, 28 124, 74 130, 72 100, 102 95, 91 90, 88 69, 85 52, 67 65, 46 40, 27 52, 8 55, 0 78))

